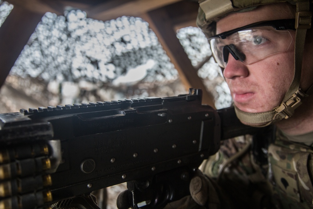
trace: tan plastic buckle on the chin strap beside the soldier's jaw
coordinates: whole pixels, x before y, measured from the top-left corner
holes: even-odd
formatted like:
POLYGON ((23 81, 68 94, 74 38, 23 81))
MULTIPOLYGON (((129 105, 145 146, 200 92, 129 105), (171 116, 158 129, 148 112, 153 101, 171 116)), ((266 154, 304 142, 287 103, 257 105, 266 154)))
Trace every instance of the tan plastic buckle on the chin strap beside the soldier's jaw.
POLYGON ((281 118, 287 119, 295 113, 295 109, 302 104, 301 99, 306 96, 308 95, 299 89, 286 102, 282 102, 275 111, 281 118))

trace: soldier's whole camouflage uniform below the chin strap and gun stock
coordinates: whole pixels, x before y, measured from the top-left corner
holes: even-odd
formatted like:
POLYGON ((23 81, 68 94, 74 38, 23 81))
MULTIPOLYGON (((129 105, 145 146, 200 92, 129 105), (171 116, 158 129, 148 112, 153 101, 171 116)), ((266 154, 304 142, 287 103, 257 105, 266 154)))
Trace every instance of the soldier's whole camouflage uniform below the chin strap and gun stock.
POLYGON ((202 165, 234 208, 311 208, 311 147, 292 143, 280 132, 268 148, 268 164, 255 162, 250 135, 222 142, 202 165), (237 155, 237 156, 236 156, 237 155), (235 156, 235 157, 234 157, 235 156))

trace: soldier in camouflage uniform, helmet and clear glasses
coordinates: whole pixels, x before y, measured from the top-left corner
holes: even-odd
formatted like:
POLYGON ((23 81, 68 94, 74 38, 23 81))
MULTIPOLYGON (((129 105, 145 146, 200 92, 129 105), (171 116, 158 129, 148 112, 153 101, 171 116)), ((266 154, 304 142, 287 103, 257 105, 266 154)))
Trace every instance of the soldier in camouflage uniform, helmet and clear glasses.
MULTIPOLYGON (((251 126, 274 124, 277 131, 275 142, 262 148, 265 163, 252 152, 262 139, 225 142, 203 165, 206 176, 191 181, 199 205, 313 207, 312 6, 309 0, 200 1, 197 24, 223 71, 237 117, 251 126)), ((199 208, 191 198, 184 205, 199 208)))

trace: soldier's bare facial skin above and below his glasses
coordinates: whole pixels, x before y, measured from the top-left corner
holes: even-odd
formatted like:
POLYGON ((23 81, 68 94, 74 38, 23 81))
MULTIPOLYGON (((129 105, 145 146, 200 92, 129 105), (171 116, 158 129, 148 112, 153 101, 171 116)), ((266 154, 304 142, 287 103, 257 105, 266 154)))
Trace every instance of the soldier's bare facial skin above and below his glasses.
MULTIPOLYGON (((217 22, 217 34, 251 23, 294 18, 286 4, 263 6, 244 13, 232 13, 217 22), (280 12, 277 12, 280 11, 280 12), (284 12, 282 12, 284 11, 284 12)), ((287 51, 246 65, 229 54, 223 75, 235 105, 245 112, 265 112, 277 107, 285 96, 294 73, 294 37, 287 51)))

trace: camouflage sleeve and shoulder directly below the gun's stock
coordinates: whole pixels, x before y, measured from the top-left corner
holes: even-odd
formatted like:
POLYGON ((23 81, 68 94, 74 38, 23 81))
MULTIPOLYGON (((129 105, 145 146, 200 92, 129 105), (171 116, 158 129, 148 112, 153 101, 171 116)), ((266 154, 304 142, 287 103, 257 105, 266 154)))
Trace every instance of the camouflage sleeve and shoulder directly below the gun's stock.
POLYGON ((201 170, 217 182, 225 195, 222 198, 229 199, 233 208, 270 208, 270 187, 263 174, 267 165, 255 163, 251 144, 250 135, 222 141, 201 170))

